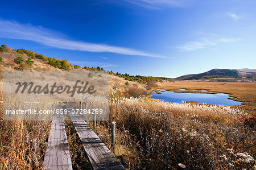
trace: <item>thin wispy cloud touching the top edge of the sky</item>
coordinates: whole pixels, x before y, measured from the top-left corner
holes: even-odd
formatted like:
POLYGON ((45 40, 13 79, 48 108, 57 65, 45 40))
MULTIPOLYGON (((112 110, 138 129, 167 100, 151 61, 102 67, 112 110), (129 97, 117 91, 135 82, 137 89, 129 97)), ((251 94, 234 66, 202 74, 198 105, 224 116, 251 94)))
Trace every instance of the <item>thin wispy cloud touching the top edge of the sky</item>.
POLYGON ((191 0, 125 0, 144 7, 146 9, 161 9, 162 7, 184 7, 191 3, 191 0))

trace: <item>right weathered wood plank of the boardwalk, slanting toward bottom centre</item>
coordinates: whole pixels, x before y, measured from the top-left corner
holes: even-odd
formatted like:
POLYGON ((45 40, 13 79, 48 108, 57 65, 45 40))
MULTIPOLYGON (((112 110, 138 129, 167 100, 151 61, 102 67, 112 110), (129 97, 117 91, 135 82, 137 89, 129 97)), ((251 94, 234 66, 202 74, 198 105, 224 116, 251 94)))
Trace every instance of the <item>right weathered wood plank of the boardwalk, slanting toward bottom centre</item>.
MULTIPOLYGON (((71 113, 71 107, 66 104, 71 113)), ((100 138, 77 114, 69 114, 93 169, 125 169, 100 138)))

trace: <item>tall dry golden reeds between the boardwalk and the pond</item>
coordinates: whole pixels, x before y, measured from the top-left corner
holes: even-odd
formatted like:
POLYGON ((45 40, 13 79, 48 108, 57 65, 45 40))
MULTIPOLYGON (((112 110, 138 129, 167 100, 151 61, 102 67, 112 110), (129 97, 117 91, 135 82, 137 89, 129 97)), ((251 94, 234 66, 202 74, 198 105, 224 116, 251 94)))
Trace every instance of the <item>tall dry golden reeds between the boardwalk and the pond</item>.
MULTIPOLYGON (((247 122, 246 113, 237 108, 112 98, 110 119, 123 133, 173 167, 177 163, 184 163, 188 169, 255 165, 255 146, 250 147, 255 144, 255 124, 247 122)), ((147 152, 134 148, 137 162, 129 168, 167 168, 147 152)))

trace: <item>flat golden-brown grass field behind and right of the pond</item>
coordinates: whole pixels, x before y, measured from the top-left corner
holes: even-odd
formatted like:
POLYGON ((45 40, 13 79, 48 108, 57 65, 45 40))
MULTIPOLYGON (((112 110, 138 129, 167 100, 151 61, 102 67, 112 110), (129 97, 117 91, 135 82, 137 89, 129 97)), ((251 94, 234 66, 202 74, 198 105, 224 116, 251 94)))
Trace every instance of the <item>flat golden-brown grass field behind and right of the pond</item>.
MULTIPOLYGON (((226 93, 230 97, 236 97, 236 101, 241 101, 242 108, 250 114, 256 113, 256 83, 255 82, 207 82, 207 81, 175 81, 158 82, 159 89, 166 89, 177 92, 179 89, 208 90, 215 93, 226 93)), ((179 91, 180 92, 180 91, 179 91)), ((182 91, 185 93, 186 91, 182 91)), ((193 91, 193 93, 199 93, 193 91)), ((203 93, 203 92, 200 92, 203 93)))

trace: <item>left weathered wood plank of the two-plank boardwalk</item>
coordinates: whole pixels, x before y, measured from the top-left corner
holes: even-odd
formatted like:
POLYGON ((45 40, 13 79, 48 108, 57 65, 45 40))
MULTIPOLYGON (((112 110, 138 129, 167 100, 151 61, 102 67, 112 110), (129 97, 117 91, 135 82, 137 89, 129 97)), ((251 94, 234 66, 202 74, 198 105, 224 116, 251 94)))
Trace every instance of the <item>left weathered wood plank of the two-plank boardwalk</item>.
MULTIPOLYGON (((57 109, 63 106, 57 105, 57 109)), ((48 147, 44 156, 43 169, 72 169, 68 148, 68 139, 62 114, 54 114, 48 138, 48 147)))

